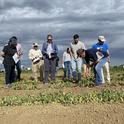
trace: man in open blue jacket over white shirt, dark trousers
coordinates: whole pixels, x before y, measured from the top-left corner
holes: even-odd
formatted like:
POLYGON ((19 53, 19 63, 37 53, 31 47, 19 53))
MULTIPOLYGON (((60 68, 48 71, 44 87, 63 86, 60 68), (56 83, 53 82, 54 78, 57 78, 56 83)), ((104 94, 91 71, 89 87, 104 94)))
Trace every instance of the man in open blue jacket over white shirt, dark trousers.
POLYGON ((44 83, 48 84, 49 74, 52 81, 55 81, 56 76, 56 59, 58 54, 58 47, 53 42, 53 36, 47 35, 47 41, 43 43, 42 54, 44 58, 44 83))

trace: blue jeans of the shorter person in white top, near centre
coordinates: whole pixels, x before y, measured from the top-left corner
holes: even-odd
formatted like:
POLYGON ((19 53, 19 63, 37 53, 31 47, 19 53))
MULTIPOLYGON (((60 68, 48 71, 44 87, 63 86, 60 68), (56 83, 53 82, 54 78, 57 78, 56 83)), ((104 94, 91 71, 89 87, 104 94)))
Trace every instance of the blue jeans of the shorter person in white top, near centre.
POLYGON ((70 61, 64 62, 64 78, 67 77, 67 74, 68 74, 68 78, 70 78, 71 77, 71 62, 70 61))

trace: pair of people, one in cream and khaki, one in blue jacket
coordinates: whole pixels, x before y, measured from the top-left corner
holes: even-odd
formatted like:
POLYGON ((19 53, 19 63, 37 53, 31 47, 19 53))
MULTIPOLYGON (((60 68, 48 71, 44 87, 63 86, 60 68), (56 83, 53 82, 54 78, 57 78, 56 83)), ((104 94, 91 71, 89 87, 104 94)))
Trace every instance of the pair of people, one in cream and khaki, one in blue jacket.
POLYGON ((51 34, 47 35, 47 41, 43 43, 42 49, 37 43, 33 43, 32 49, 29 51, 29 59, 32 61, 32 71, 36 81, 39 77, 41 81, 47 84, 50 81, 49 75, 52 81, 55 80, 57 54, 58 47, 53 42, 51 34))

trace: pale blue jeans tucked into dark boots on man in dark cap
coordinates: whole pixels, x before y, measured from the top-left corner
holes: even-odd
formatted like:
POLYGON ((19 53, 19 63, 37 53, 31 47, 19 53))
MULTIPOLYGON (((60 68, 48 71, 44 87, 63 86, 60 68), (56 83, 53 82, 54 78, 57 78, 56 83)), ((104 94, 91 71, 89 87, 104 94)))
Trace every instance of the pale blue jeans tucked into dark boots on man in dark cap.
POLYGON ((71 64, 72 64, 72 76, 74 79, 77 78, 78 80, 81 80, 81 71, 82 71, 82 58, 74 59, 72 58, 71 64))

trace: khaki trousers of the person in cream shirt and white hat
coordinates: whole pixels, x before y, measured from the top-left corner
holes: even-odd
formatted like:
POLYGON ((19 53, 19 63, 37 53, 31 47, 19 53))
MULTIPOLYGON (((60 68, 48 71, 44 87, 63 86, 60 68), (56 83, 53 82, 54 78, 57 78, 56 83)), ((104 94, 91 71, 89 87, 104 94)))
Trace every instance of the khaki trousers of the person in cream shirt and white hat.
POLYGON ((33 64, 32 63, 32 72, 33 72, 33 77, 35 81, 38 81, 38 78, 40 81, 43 81, 43 71, 44 71, 44 61, 40 60, 38 63, 33 64))

